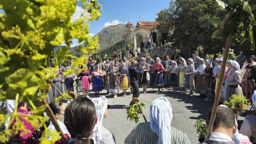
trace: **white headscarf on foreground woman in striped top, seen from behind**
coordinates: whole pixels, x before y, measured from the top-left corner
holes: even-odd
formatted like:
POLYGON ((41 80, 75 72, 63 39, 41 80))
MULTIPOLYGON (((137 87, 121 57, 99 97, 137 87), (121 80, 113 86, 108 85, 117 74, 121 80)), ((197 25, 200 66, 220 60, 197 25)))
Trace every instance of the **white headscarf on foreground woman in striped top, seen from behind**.
POLYGON ((151 103, 150 128, 158 135, 157 144, 170 144, 172 118, 172 105, 164 96, 151 103))

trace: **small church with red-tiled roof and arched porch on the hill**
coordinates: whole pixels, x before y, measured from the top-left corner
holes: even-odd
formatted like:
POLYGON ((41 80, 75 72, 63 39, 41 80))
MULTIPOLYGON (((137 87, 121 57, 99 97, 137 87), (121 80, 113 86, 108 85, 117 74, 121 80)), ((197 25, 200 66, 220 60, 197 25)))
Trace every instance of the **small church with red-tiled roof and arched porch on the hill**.
POLYGON ((137 22, 136 28, 130 28, 132 26, 132 23, 129 20, 129 22, 127 23, 129 30, 124 34, 126 56, 128 56, 129 54, 128 45, 137 48, 137 46, 140 47, 141 43, 144 43, 143 48, 146 48, 147 37, 150 35, 151 30, 153 30, 154 27, 157 26, 157 24, 158 22, 156 21, 140 21, 139 18, 139 22, 137 22))

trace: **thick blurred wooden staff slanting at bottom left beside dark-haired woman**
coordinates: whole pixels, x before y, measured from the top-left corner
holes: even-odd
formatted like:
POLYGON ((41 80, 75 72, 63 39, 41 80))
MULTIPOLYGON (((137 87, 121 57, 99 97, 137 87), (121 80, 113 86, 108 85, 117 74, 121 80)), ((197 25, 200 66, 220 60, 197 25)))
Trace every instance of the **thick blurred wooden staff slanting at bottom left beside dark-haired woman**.
POLYGON ((52 124, 54 125, 55 129, 57 130, 57 132, 60 132, 61 135, 61 140, 67 144, 68 140, 66 139, 65 134, 62 132, 62 130, 60 129, 60 126, 52 112, 52 109, 50 108, 50 106, 48 105, 48 103, 46 103, 45 99, 42 100, 42 102, 47 106, 45 112, 48 115, 48 117, 50 118, 50 121, 52 122, 52 124))

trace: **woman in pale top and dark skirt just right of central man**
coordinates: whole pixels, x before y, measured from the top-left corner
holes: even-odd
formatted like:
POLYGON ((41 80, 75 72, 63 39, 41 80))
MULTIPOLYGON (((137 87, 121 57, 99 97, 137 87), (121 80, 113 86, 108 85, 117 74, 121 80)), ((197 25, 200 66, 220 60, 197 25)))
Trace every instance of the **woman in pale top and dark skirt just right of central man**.
MULTIPOLYGON (((146 62, 146 58, 142 57, 140 60, 142 63, 139 65, 138 70, 140 71, 142 69, 143 65, 145 65, 145 68, 143 70, 144 72, 142 74, 140 74, 139 82, 143 88, 142 93, 146 94, 147 93, 147 85, 150 84, 150 81, 147 81, 147 73, 149 72, 150 68, 146 62)), ((148 73, 148 76, 149 76, 149 73, 148 73)))

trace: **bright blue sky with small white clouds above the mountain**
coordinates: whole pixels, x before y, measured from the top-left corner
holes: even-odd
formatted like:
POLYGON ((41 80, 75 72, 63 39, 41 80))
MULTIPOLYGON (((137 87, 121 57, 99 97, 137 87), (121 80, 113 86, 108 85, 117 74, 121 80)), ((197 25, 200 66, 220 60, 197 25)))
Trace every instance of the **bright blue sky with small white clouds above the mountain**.
MULTIPOLYGON (((129 18, 133 25, 139 21, 154 21, 156 14, 164 8, 168 8, 170 0, 98 0, 102 5, 102 15, 98 20, 89 21, 89 33, 95 35, 104 27, 127 23, 129 18)), ((74 15, 82 12, 82 3, 78 2, 74 15)), ((0 10, 0 12, 3 12, 0 10)), ((78 45, 74 39, 71 47, 78 45)))

